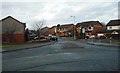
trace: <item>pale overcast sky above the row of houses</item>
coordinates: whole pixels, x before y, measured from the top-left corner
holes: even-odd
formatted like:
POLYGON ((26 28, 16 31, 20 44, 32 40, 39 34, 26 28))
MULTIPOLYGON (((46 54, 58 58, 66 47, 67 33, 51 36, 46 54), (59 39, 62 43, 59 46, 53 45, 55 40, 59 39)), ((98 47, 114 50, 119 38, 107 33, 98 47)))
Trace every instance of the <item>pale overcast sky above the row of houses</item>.
POLYGON ((119 0, 3 0, 2 16, 13 16, 26 23, 27 28, 42 19, 44 26, 73 23, 70 16, 75 16, 75 22, 100 21, 108 23, 118 19, 119 0))

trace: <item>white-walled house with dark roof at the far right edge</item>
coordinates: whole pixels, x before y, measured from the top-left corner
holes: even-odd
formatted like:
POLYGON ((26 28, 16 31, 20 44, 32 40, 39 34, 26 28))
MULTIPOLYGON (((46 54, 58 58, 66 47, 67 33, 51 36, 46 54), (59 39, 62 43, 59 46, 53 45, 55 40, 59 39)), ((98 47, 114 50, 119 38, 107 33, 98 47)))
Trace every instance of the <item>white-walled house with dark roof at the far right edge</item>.
POLYGON ((115 39, 120 39, 120 19, 110 20, 107 27, 107 35, 115 39))

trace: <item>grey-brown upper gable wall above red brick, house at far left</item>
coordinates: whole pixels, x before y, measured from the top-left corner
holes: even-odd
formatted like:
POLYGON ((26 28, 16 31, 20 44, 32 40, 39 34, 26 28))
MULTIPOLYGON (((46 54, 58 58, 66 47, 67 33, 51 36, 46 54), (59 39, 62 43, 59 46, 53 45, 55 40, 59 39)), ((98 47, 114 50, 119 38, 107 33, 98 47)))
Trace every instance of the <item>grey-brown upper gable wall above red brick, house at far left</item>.
POLYGON ((15 31, 14 34, 23 34, 25 31, 25 23, 22 23, 11 16, 2 19, 1 22, 2 33, 5 33, 7 31, 15 31))

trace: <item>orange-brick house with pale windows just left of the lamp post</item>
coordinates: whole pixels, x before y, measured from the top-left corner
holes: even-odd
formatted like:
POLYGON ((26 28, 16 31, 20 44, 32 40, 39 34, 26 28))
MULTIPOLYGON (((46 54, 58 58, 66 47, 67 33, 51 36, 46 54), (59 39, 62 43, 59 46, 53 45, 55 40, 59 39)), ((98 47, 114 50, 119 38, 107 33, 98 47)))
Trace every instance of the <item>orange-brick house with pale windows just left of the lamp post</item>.
POLYGON ((59 36, 59 37, 72 36, 73 29, 74 29, 73 24, 64 24, 64 25, 58 24, 57 29, 56 29, 56 36, 59 36))

